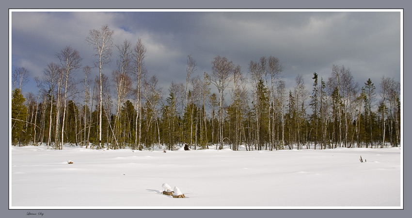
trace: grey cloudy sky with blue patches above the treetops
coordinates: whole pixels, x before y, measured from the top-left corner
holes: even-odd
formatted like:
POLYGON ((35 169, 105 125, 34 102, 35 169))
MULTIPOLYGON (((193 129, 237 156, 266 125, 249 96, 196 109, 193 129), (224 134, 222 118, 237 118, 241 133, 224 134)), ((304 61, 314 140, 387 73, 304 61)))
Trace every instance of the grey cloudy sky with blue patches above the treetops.
MULTIPOLYGON (((105 24, 114 31, 114 44, 142 39, 148 75, 157 75, 166 90, 172 81, 185 83, 188 55, 197 63, 194 76, 210 73, 217 55, 240 65, 244 75, 250 61, 276 56, 287 88, 302 74, 311 89, 313 73, 327 81, 333 65, 349 67, 360 86, 371 78, 378 88, 382 76, 399 82, 401 76, 399 11, 14 11, 11 18, 12 68, 25 67, 32 78, 41 78, 48 63, 59 63, 55 54, 65 46, 79 51, 83 66, 94 66, 95 52, 85 39, 105 24)), ((113 49, 105 74, 111 76, 116 57, 113 49)), ((23 87, 36 90, 33 79, 23 87)))

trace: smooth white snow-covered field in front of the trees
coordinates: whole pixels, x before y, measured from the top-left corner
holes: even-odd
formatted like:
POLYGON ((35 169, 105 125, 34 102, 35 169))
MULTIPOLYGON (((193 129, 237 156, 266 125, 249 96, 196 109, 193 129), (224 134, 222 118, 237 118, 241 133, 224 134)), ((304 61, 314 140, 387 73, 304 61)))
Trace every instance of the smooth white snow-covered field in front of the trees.
POLYGON ((403 208, 400 148, 10 150, 11 209, 403 208))

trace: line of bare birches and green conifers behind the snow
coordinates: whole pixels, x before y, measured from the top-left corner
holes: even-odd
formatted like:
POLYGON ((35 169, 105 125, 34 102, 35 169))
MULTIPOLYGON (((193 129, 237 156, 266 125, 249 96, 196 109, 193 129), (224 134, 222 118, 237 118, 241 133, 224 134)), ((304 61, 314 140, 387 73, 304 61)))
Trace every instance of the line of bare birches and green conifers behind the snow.
POLYGON ((286 90, 277 57, 251 61, 245 73, 218 55, 211 72, 193 76, 196 61, 189 55, 186 83, 165 89, 148 76, 142 40, 114 45, 113 33, 107 25, 90 30, 94 67, 82 67, 71 46, 57 52, 59 63, 34 78, 36 93, 22 95, 29 72, 13 69, 13 145, 173 150, 187 143, 247 151, 400 145, 400 83, 393 78, 359 85, 348 67, 333 65, 329 78, 315 72, 306 85, 298 75, 286 90), (105 75, 109 62, 117 69, 105 75), (99 75, 91 78, 95 69, 99 75))

